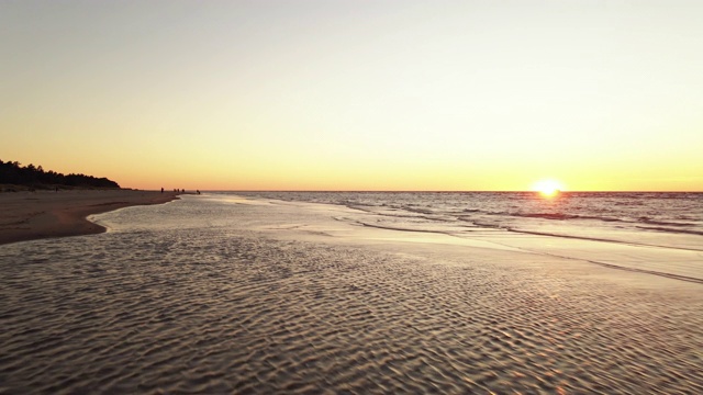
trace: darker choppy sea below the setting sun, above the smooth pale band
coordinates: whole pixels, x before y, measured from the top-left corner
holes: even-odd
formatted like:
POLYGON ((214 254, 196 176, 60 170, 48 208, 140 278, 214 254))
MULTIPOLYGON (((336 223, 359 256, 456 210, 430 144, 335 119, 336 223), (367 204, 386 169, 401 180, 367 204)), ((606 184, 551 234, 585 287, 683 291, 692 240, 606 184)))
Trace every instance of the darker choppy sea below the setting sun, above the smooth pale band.
MULTIPOLYGON (((373 216, 366 226, 467 236, 481 228, 703 251, 703 193, 237 192, 339 204, 373 216)), ((369 219, 369 217, 367 217, 369 219)))

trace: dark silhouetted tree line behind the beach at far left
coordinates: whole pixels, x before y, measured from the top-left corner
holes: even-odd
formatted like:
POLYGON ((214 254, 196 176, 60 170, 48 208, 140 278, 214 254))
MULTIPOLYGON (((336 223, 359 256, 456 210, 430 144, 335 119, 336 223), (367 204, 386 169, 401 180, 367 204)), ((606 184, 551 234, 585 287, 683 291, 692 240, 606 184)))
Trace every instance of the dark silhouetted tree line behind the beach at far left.
POLYGON ((68 176, 56 171, 45 171, 41 166, 32 163, 22 167, 18 161, 0 160, 0 184, 26 185, 34 189, 57 187, 68 188, 120 188, 107 178, 96 178, 86 174, 70 173, 68 176))

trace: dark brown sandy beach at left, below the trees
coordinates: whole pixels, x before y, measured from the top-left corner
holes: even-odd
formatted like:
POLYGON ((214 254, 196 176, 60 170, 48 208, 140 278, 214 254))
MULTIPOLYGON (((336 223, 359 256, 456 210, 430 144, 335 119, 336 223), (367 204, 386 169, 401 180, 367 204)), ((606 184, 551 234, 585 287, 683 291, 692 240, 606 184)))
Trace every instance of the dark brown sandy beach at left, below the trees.
POLYGON ((163 204, 179 192, 72 190, 0 193, 0 246, 43 238, 104 233, 87 219, 134 205, 163 204))

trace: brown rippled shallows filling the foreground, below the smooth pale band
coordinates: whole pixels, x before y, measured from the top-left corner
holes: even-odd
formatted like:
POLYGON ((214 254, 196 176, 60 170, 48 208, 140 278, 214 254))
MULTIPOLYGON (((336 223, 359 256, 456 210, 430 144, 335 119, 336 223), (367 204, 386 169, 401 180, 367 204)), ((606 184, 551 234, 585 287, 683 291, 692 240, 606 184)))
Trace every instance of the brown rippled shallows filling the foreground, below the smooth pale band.
POLYGON ((237 215, 0 247, 0 393, 703 393, 700 284, 237 215))

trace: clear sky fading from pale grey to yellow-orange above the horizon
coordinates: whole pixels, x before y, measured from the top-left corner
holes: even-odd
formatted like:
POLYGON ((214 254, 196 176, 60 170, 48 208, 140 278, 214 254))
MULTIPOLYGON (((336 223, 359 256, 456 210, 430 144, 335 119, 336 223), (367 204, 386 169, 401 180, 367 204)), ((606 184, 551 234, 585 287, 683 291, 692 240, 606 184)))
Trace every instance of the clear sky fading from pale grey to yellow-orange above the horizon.
POLYGON ((0 0, 0 159, 155 190, 703 191, 703 1, 0 0))

